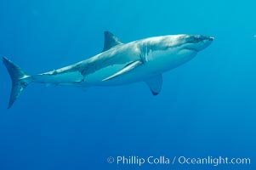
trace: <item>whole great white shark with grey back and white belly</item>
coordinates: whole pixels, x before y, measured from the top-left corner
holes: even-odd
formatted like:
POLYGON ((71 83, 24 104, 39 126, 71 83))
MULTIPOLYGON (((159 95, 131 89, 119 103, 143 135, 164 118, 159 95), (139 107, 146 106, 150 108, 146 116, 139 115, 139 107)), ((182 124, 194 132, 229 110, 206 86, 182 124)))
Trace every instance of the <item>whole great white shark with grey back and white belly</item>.
POLYGON ((191 60, 213 42, 213 37, 181 34, 122 43, 110 31, 105 31, 104 35, 104 48, 100 54, 34 76, 27 75, 3 57, 12 80, 9 108, 31 82, 78 88, 145 82, 156 95, 162 88, 163 72, 191 60))

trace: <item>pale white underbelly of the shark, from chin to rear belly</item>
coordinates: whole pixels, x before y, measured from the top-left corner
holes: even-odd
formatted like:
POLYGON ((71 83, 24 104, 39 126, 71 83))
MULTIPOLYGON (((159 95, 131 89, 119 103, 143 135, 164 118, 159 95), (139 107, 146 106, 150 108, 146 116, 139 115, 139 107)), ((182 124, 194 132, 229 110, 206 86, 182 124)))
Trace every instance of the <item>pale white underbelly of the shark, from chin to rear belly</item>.
POLYGON ((155 54, 154 59, 146 61, 145 64, 139 65, 134 68, 134 70, 123 73, 122 75, 110 80, 102 81, 107 77, 111 77, 118 71, 121 71, 126 65, 128 65, 128 63, 124 65, 111 65, 102 68, 99 71, 95 71, 94 73, 86 76, 84 78, 84 82, 93 86, 117 86, 145 81, 149 77, 162 74, 164 71, 172 70, 175 67, 182 65, 187 60, 191 59, 194 56, 194 53, 191 53, 189 50, 182 50, 177 54, 167 54, 168 56, 166 57, 162 56, 162 54, 159 54, 159 56, 157 55, 155 54))

